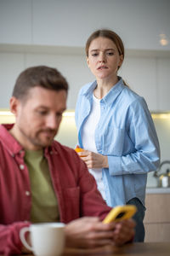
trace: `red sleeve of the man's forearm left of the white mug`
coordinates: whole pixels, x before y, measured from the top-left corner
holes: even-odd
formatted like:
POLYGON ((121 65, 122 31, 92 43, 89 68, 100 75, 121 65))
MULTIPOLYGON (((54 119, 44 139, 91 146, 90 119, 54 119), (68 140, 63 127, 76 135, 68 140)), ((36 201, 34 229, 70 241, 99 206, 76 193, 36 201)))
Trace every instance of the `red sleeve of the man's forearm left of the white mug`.
POLYGON ((9 225, 0 224, 0 254, 5 256, 20 254, 23 247, 20 241, 20 229, 29 225, 29 223, 24 222, 9 225))

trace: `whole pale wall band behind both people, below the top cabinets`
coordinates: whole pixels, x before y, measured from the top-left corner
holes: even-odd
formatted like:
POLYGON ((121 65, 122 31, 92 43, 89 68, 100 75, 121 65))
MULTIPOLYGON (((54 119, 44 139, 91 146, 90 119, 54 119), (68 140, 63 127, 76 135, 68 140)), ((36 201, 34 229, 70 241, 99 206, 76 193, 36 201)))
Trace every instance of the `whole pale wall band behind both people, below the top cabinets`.
MULTIPOLYGON (((0 45, 0 108, 8 108, 14 82, 26 67, 48 65, 57 67, 70 84, 67 107, 74 109, 77 94, 83 84, 94 80, 86 64, 82 48, 22 48, 0 45), (3 90, 5 88, 5 90, 3 90)), ((126 50, 120 75, 139 95, 144 96, 151 111, 170 110, 170 51, 158 52, 126 50), (152 54, 151 54, 152 53, 152 54)))

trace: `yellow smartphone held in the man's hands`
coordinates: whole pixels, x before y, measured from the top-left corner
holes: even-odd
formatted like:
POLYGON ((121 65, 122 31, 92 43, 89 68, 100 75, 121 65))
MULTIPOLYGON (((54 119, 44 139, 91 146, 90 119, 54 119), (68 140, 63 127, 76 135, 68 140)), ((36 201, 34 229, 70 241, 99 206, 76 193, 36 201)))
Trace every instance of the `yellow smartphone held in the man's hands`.
POLYGON ((133 217, 134 213, 137 212, 137 207, 133 205, 125 205, 125 206, 118 206, 114 207, 111 212, 107 214, 103 223, 107 224, 112 221, 118 222, 122 219, 127 219, 133 217))

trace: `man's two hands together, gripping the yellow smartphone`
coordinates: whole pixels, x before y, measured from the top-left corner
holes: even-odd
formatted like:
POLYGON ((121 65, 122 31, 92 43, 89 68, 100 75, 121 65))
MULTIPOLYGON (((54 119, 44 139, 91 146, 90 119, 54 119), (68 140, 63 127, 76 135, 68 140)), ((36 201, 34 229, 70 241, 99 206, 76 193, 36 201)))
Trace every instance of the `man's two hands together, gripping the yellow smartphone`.
POLYGON ((84 217, 65 226, 67 247, 99 247, 108 244, 122 245, 134 236, 133 220, 103 224, 99 218, 84 217))

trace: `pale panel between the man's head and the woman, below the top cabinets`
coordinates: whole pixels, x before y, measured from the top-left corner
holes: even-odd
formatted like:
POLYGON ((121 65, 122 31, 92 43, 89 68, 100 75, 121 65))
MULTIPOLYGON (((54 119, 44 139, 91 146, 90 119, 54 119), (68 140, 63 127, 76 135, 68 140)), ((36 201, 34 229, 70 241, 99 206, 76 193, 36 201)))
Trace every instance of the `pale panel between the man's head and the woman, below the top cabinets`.
POLYGON ((82 55, 26 55, 26 67, 47 65, 59 69, 67 79, 70 90, 67 108, 75 108, 77 94, 83 84, 94 80, 86 64, 86 58, 82 55))

